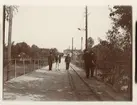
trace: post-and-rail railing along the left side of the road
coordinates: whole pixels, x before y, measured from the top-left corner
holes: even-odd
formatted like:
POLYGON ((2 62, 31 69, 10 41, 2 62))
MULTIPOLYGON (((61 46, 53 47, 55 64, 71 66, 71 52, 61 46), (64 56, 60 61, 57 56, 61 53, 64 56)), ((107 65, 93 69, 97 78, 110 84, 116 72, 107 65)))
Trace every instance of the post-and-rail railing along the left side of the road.
POLYGON ((12 78, 30 73, 36 69, 40 69, 47 66, 48 61, 46 59, 11 59, 10 62, 7 59, 4 60, 3 68, 3 80, 8 81, 12 78))

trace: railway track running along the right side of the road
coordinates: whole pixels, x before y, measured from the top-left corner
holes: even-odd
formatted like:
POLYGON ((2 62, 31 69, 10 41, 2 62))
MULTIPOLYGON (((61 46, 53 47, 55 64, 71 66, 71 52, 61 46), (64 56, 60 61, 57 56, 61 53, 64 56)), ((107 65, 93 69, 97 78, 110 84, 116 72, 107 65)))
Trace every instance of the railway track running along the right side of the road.
MULTIPOLYGON (((86 96, 88 95, 89 100, 95 100, 95 101, 104 101, 104 99, 102 98, 102 96, 100 96, 96 90, 94 88, 92 88, 79 74, 78 72, 72 67, 70 66, 70 70, 67 70, 67 73, 68 73, 68 78, 69 78, 69 84, 70 84, 70 87, 71 87, 71 90, 73 92, 73 95, 74 97, 76 98, 76 100, 78 101, 81 101, 83 100, 82 99, 82 96, 81 96, 81 93, 85 92, 86 96), (78 84, 77 82, 80 83, 83 83, 82 87, 81 88, 84 88, 83 89, 78 89, 77 85, 78 84)), ((115 99, 110 96, 108 93, 104 92, 105 95, 106 95, 106 100, 110 100, 110 101, 114 101, 115 99)))

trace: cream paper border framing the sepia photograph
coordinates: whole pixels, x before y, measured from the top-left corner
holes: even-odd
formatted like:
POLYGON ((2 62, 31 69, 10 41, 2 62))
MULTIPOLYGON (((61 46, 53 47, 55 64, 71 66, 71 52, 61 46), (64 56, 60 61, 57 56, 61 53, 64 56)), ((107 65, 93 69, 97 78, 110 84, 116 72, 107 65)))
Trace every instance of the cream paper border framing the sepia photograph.
MULTIPOLYGON (((102 1, 100 1, 100 0, 96 0, 96 1, 94 1, 94 0, 87 0, 88 2, 86 2, 85 0, 80 0, 80 2, 79 2, 79 0, 41 0, 41 2, 39 2, 39 0, 35 0, 35 2, 34 2, 34 0, 30 0, 30 1, 24 1, 24 0, 5 0, 5 3, 2 3, 2 4, 16 4, 16 5, 35 5, 35 6, 41 6, 41 5, 45 5, 45 6, 50 6, 50 5, 52 5, 52 6, 61 6, 61 5, 63 5, 63 6, 70 6, 70 5, 73 5, 73 6, 80 6, 80 5, 85 5, 85 4, 88 4, 89 6, 90 5, 97 5, 97 6, 99 6, 99 5, 107 5, 107 4, 111 4, 111 5, 131 5, 132 6, 132 36, 133 36, 133 38, 132 38, 132 102, 127 102, 127 101, 125 101, 125 102, 115 102, 116 104, 119 104, 119 105, 127 105, 127 104, 136 104, 137 103, 137 101, 136 101, 136 97, 137 97, 137 89, 136 89, 136 91, 135 91, 135 89, 134 89, 134 87, 135 87, 135 49, 136 49, 136 47, 135 47, 135 17, 133 16, 134 15, 134 11, 133 11, 133 9, 134 9, 134 6, 136 6, 134 3, 136 3, 137 4, 137 2, 135 1, 135 0, 130 0, 130 1, 125 1, 125 0, 121 0, 121 1, 119 1, 119 0, 115 0, 115 1, 111 1, 111 0, 102 0, 102 1), (66 2, 67 1, 67 2, 66 2), (69 2, 68 2, 69 1, 69 2), (75 1, 75 2, 74 2, 75 1), (131 1, 133 1, 133 2, 131 2, 131 1), (135 95, 135 93, 136 93, 136 95, 135 95)), ((1 26, 0 26, 0 28, 1 28, 1 26)), ((1 30, 1 29, 0 29, 1 30)), ((1 33, 0 33, 0 58, 3 58, 3 51, 2 51, 2 31, 1 31, 1 33)), ((0 76, 1 77, 3 77, 2 76, 2 74, 3 74, 3 72, 2 72, 2 70, 3 70, 3 63, 2 63, 3 61, 2 60, 0 60, 0 67, 1 67, 1 72, 0 72, 0 76)), ((1 79, 1 80, 3 80, 3 79, 1 79)), ((1 83, 2 83, 3 81, 1 81, 1 83)), ((2 90, 2 91, 0 91, 0 93, 1 92, 3 92, 3 89, 2 89, 2 86, 0 85, 0 87, 1 87, 1 89, 0 90, 2 90)), ((0 97, 1 99, 2 99, 2 97, 0 97)), ((100 104, 100 103, 102 103, 102 104, 105 104, 105 105, 107 105, 107 104, 109 104, 109 105, 112 105, 112 104, 115 104, 114 102, 106 102, 106 101, 101 101, 101 102, 61 102, 61 101, 57 101, 57 102, 55 102, 55 101, 53 101, 53 102, 36 102, 36 101, 33 101, 33 102, 24 102, 24 101, 17 101, 17 102, 13 102, 13 101, 8 101, 8 102, 5 102, 5 101, 1 101, 1 104, 2 105, 18 105, 18 104, 22 104, 22 105, 24 105, 24 104, 26 104, 26 105, 32 105, 32 104, 40 104, 40 105, 44 105, 44 104, 100 104), (102 103, 103 102, 103 103, 102 103)))

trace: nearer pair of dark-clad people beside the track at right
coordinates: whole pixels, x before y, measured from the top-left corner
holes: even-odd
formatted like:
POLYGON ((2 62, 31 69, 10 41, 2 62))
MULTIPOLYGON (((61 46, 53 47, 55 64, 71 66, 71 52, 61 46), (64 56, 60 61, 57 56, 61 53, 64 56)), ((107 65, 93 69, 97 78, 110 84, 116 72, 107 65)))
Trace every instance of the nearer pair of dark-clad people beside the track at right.
POLYGON ((96 57, 92 50, 84 50, 84 64, 85 64, 85 70, 86 70, 86 77, 89 78, 89 74, 91 74, 91 77, 94 75, 94 69, 96 65, 96 57))

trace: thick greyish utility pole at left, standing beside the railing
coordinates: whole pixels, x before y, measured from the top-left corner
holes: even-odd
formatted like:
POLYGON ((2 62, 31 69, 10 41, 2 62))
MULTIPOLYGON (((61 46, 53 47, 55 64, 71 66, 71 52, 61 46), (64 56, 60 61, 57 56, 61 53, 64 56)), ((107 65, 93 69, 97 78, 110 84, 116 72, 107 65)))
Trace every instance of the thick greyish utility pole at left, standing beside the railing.
POLYGON ((8 69, 7 69, 7 80, 9 75, 9 70, 11 67, 11 34, 12 34, 12 7, 9 7, 9 29, 8 29, 8 69))

